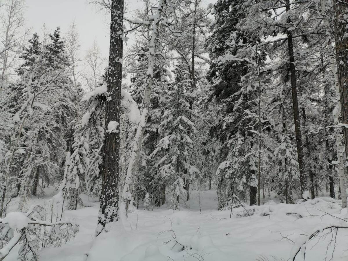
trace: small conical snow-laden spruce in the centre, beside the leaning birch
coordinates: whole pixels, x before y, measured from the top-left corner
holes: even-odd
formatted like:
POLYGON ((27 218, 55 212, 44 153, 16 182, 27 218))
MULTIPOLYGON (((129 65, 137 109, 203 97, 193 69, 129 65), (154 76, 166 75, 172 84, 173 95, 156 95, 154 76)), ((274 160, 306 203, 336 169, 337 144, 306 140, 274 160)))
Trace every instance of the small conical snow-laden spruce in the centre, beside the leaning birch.
MULTIPOLYGON (((191 120, 192 110, 185 94, 185 91, 191 88, 189 77, 187 71, 183 70, 183 65, 178 64, 175 69, 175 82, 168 90, 168 96, 171 98, 168 98, 167 110, 159 125, 162 138, 151 153, 151 157, 159 156, 151 172, 158 169, 160 180, 165 180, 173 191, 174 205, 181 194, 188 199, 190 181, 199 174, 198 169, 192 164, 194 136, 197 130, 191 120)), ((152 182, 160 181, 154 179, 152 182)))

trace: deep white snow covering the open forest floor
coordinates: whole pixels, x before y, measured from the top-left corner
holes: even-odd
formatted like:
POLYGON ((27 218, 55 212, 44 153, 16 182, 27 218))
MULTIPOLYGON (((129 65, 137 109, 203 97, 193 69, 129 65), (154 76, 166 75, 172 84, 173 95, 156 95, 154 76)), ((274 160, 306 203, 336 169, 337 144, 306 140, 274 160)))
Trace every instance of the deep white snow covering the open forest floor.
MULTIPOLYGON (((347 209, 332 198, 245 205, 248 216, 244 207, 233 208, 232 213, 230 208, 217 211, 216 192, 207 190, 193 191, 190 204, 181 204, 174 213, 166 205, 135 210, 126 222, 114 223, 109 233, 95 238, 99 203, 82 198, 86 207, 64 213, 65 219, 79 224, 78 234, 61 247, 44 248, 42 261, 289 260, 315 230, 348 225, 343 219, 347 209)), ((45 199, 48 196, 32 203, 45 199)), ((323 230, 307 243, 305 260, 347 261, 347 238, 348 229, 323 230)), ((5 260, 16 260, 15 251, 5 260)), ((300 251, 296 260, 303 260, 303 254, 300 251)))

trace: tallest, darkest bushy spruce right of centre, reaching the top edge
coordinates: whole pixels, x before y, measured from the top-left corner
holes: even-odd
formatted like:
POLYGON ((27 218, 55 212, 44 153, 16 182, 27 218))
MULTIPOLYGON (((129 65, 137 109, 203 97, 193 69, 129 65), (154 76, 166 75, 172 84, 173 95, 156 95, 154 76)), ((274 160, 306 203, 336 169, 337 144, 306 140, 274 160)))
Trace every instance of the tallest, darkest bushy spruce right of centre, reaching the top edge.
POLYGON ((224 171, 228 173, 226 177, 233 185, 227 185, 229 181, 220 179, 221 185, 231 188, 227 194, 233 194, 234 187, 243 188, 244 183, 248 184, 250 204, 256 204, 257 168, 253 153, 250 154, 257 144, 254 141, 254 128, 258 126, 259 119, 253 117, 253 113, 257 114, 257 103, 254 102, 256 90, 242 82, 242 77, 250 72, 250 62, 236 55, 243 45, 253 46, 259 39, 253 32, 238 26, 238 22, 246 17, 247 9, 243 1, 217 1, 214 9, 215 23, 207 40, 207 50, 212 60, 207 78, 212 84, 211 96, 216 98, 218 110, 223 114, 222 121, 212 126, 212 132, 224 144, 222 151, 225 158, 216 175, 223 177, 224 171), (238 163, 235 162, 237 159, 238 163), (240 180, 243 181, 241 186, 240 180))

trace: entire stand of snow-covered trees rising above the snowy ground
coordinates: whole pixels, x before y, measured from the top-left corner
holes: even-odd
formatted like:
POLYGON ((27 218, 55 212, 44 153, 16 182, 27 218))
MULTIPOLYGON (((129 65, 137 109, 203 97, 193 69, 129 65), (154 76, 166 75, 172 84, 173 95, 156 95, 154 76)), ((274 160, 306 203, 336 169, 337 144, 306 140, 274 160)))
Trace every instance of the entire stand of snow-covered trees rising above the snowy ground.
POLYGON ((24 2, 0 8, 0 216, 61 182, 68 209, 100 197, 97 234, 141 200, 189 207, 205 187, 219 208, 336 188, 346 206, 344 1, 146 0, 132 18, 92 2, 111 12, 104 71, 96 41, 81 70, 76 24, 23 48, 24 2))

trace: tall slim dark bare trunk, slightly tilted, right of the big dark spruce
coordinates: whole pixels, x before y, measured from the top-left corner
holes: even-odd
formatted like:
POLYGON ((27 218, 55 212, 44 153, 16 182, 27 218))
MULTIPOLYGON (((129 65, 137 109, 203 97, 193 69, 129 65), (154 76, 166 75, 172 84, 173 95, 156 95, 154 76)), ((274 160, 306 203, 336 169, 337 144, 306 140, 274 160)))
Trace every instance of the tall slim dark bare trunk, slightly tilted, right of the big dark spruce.
MULTIPOLYGON (((289 11, 290 11, 290 0, 286 0, 286 12, 289 12, 289 11)), ((290 16, 288 17, 287 22, 290 26, 290 23, 291 23, 290 16)), ((297 86, 296 86, 294 46, 293 46, 291 30, 287 30, 287 49, 289 53, 292 106, 293 106, 293 112, 294 112, 296 146, 297 146, 297 155, 298 155, 299 167, 300 167, 301 197, 303 197, 303 192, 307 190, 307 176, 306 176, 306 167, 304 163, 304 153, 303 153, 303 145, 302 145, 300 113, 299 113, 299 104, 298 104, 297 86)))

